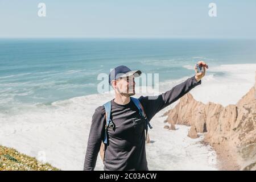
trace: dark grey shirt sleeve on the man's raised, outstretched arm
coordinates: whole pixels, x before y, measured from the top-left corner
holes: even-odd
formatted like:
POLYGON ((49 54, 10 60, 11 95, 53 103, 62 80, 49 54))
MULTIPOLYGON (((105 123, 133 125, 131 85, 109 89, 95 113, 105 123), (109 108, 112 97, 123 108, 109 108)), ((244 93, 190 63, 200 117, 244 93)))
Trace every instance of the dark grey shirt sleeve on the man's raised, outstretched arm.
POLYGON ((188 78, 181 84, 174 86, 174 88, 160 94, 159 96, 141 96, 139 101, 141 101, 147 114, 147 118, 150 121, 152 117, 158 113, 158 111, 179 100, 180 97, 184 96, 191 89, 200 84, 201 80, 197 82, 195 76, 192 76, 191 78, 188 78))

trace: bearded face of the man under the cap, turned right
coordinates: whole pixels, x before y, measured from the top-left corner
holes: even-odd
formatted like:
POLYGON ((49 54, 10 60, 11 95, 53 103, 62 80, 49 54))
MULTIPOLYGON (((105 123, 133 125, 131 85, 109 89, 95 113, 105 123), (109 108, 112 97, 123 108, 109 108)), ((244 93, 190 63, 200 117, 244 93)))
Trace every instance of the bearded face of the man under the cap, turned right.
POLYGON ((135 94, 134 76, 121 77, 116 81, 115 90, 120 94, 133 96, 135 94))

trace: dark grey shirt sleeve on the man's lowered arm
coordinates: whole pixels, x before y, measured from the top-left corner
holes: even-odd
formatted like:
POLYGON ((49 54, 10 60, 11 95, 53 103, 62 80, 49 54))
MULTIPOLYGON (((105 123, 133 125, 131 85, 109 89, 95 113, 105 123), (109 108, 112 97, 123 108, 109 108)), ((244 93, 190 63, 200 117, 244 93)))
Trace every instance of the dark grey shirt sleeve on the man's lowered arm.
POLYGON ((97 107, 92 117, 92 125, 87 143, 87 149, 84 161, 84 171, 93 171, 96 166, 98 152, 101 142, 104 138, 104 129, 106 125, 104 106, 97 107))

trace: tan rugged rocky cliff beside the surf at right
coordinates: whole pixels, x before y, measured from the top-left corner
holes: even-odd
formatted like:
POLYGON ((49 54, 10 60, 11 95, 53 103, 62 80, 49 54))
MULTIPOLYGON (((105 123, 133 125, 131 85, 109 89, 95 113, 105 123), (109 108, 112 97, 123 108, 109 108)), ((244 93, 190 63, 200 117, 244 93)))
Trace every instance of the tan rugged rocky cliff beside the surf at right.
MULTIPOLYGON (((239 88, 238 88, 239 89, 239 88)), ((256 170, 256 75, 255 85, 237 102, 226 107, 196 101, 190 93, 167 111, 166 122, 192 126, 188 136, 197 137, 204 133, 205 142, 223 156, 230 158, 231 166, 226 169, 256 170), (236 162, 234 162, 236 160, 236 162)))

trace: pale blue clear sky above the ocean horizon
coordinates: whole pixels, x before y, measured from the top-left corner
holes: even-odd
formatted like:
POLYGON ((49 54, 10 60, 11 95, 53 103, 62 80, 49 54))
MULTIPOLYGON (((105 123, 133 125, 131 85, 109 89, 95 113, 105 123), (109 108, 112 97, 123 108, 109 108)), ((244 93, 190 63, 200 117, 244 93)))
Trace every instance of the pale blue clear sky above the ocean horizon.
POLYGON ((0 0, 0 37, 256 38, 256 1, 0 0), (46 17, 38 4, 46 3, 46 17), (217 17, 208 15, 216 3, 217 17))

